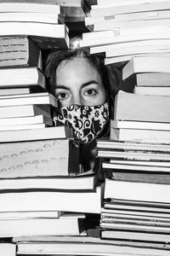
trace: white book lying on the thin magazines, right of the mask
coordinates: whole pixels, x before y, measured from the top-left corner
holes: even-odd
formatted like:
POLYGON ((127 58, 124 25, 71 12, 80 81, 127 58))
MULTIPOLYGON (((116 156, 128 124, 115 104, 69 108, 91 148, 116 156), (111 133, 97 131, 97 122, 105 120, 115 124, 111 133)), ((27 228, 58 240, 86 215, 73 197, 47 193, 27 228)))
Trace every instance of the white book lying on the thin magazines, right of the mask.
POLYGON ((170 132, 142 129, 111 128, 111 139, 117 141, 135 141, 143 143, 170 143, 170 132))

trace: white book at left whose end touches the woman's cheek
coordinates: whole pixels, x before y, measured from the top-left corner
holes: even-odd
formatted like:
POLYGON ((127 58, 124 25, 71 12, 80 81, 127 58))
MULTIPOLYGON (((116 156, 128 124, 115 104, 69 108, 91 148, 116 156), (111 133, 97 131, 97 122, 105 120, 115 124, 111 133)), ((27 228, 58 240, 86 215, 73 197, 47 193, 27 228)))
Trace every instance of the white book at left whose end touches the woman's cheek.
POLYGON ((57 99, 48 92, 39 92, 22 95, 0 96, 0 107, 23 105, 52 105, 58 107, 57 99))

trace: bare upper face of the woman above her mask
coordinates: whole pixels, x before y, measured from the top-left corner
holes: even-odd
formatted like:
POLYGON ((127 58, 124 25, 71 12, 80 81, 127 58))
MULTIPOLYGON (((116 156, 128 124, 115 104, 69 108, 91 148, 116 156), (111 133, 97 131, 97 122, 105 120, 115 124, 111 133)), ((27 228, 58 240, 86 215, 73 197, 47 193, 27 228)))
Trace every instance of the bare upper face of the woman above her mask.
POLYGON ((98 71, 84 58, 61 61, 56 70, 55 94, 59 106, 97 106, 106 102, 98 71))

